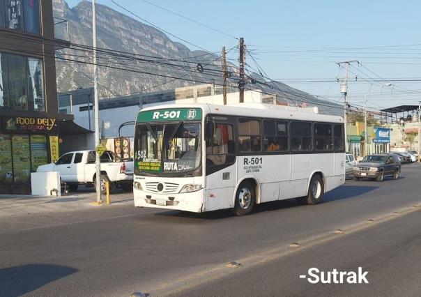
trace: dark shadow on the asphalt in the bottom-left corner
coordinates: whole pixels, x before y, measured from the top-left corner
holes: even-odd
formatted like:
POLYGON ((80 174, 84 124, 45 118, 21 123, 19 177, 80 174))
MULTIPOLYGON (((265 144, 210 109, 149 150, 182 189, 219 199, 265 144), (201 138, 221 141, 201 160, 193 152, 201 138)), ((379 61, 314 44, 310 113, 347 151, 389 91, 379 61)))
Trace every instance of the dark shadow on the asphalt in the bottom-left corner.
POLYGON ((50 264, 0 268, 0 296, 21 296, 75 272, 75 268, 50 264))

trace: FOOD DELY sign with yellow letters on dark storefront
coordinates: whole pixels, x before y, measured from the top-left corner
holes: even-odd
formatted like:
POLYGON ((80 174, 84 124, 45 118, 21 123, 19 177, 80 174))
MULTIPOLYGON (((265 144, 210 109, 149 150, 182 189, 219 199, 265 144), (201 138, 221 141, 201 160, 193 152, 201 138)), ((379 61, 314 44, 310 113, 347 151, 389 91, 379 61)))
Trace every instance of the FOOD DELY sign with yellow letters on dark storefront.
POLYGON ((6 131, 13 132, 56 132, 56 119, 30 118, 23 116, 6 117, 3 120, 6 131))

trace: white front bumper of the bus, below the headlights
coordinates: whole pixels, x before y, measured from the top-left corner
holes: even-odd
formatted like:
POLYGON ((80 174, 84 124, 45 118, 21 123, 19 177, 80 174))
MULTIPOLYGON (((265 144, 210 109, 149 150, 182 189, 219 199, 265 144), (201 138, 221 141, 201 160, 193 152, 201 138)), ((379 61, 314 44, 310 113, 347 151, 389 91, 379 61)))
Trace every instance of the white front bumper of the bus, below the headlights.
POLYGON ((201 213, 204 204, 204 189, 177 194, 157 194, 134 190, 136 207, 165 208, 201 213))

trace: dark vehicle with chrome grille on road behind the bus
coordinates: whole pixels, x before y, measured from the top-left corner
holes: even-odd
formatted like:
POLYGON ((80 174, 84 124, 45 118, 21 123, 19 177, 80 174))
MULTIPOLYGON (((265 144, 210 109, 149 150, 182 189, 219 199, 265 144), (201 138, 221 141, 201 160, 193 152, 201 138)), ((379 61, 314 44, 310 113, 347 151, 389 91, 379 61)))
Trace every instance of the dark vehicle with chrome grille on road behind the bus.
POLYGON ((372 178, 376 181, 383 181, 385 176, 398 179, 400 173, 401 163, 396 155, 390 154, 366 155, 357 166, 353 167, 355 180, 372 178))

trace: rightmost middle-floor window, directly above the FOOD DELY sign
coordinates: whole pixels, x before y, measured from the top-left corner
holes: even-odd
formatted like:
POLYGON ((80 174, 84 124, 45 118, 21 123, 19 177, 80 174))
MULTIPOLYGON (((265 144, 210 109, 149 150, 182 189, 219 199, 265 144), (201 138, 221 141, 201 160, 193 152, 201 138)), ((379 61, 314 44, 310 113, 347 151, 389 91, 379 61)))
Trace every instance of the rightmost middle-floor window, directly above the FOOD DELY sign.
POLYGON ((33 105, 33 110, 44 112, 43 61, 36 58, 28 58, 28 68, 29 103, 31 107, 33 105))

